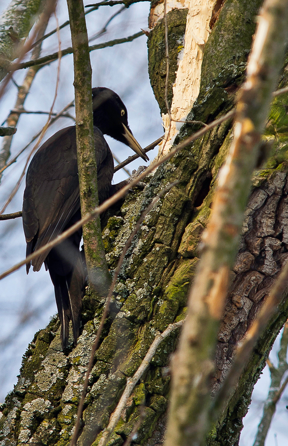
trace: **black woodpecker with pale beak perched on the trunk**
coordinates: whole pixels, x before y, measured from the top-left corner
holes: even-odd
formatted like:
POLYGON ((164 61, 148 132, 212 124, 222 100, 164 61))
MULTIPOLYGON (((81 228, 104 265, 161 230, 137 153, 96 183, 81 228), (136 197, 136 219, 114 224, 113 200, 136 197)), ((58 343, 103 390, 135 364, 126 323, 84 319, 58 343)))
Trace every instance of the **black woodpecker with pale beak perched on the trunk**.
MULTIPOLYGON (((103 134, 123 142, 145 161, 147 155, 133 137, 127 110, 120 97, 104 87, 92 89, 94 147, 97 163, 98 196, 101 204, 113 194, 114 163, 103 134)), ((76 128, 64 128, 49 138, 33 157, 26 176, 23 200, 23 227, 26 256, 41 248, 81 219, 77 164, 76 128)), ((74 342, 80 328, 84 269, 79 250, 82 229, 39 255, 31 263, 39 271, 44 263, 49 270, 61 322, 63 349, 68 346, 69 321, 74 342)), ((27 274, 30 269, 27 264, 27 274)))

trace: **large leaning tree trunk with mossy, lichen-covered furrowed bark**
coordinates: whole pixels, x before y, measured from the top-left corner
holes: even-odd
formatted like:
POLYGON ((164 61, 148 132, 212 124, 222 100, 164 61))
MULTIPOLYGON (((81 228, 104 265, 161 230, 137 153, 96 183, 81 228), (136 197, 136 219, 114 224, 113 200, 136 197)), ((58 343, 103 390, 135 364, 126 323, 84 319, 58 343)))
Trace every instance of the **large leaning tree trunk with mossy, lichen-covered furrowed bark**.
MULTIPOLYGON (((212 30, 204 48, 200 93, 190 119, 210 122, 233 107, 235 94, 244 80, 260 5, 260 0, 226 0, 216 19, 210 22, 212 30)), ((168 23, 170 19, 175 20, 173 32, 179 30, 179 35, 172 36, 174 42, 183 41, 183 14, 171 11, 168 23)), ((161 22, 150 33, 148 47, 155 95, 164 107, 165 35, 161 22)), ((177 51, 174 54, 177 57, 177 51)), ((175 59, 171 66, 173 63, 177 67, 175 59)), ((280 87, 288 85, 287 66, 288 58, 280 87)), ((274 153, 265 169, 254 174, 240 249, 231 272, 232 283, 215 354, 214 391, 227 372, 235 344, 245 335, 288 258, 287 125, 286 99, 278 97, 273 102, 265 135, 275 138, 274 153)), ((196 128, 195 124, 185 124, 175 142, 196 128)), ((107 261, 113 269, 141 211, 167 183, 179 180, 148 214, 126 255, 110 317, 95 354, 78 445, 91 445, 95 439, 98 442, 126 379, 140 365, 154 336, 185 315, 187 292, 199 257, 198 241, 232 136, 231 122, 223 122, 186 147, 147 178, 143 191, 126 197, 121 210, 109 219, 103 231, 107 261)), ((103 304, 87 291, 82 335, 68 355, 61 350, 57 318, 35 335, 23 359, 18 384, 6 399, 0 421, 0 445, 69 444, 103 304)), ((287 317, 288 300, 284 300, 207 439, 209 445, 238 443, 254 383, 287 317)), ((173 333, 160 345, 130 397, 109 445, 122 445, 141 413, 145 417, 141 418, 134 443, 161 444, 169 395, 169 376, 165 371, 176 338, 177 333, 173 333)))

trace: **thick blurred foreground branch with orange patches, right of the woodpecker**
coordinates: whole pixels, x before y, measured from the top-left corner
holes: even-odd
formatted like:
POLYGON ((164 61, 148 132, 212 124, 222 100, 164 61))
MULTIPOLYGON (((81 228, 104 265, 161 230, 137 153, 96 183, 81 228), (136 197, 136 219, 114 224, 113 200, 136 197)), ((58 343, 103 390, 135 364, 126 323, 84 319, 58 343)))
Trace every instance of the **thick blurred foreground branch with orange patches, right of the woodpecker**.
MULTIPOLYGON (((179 349, 172 362, 166 446, 203 445, 211 429, 210 378, 219 314, 228 290, 228 280, 223 282, 222 276, 226 271, 228 277, 236 256, 250 177, 285 55, 287 24, 288 0, 266 0, 237 105, 234 140, 219 173, 211 218, 203 235, 203 255, 190 292, 179 349), (221 282, 224 286, 219 286, 221 282), (215 300, 210 298, 215 293, 218 311, 212 305, 215 300)), ((218 406, 218 416, 219 412, 218 406)))

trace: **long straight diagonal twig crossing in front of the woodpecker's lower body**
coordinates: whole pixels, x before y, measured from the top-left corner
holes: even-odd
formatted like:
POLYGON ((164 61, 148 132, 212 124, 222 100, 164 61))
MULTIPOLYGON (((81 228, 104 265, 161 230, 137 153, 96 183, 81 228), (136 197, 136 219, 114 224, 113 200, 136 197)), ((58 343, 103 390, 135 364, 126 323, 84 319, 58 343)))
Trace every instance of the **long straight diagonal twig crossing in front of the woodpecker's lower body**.
POLYGON ((0 280, 4 277, 9 276, 9 274, 13 273, 14 271, 19 270, 23 265, 26 265, 26 263, 31 262, 31 260, 36 259, 40 254, 44 252, 49 252, 54 246, 61 243, 65 238, 72 235, 75 231, 81 228, 81 226, 84 223, 89 222, 90 220, 94 219, 96 215, 101 214, 102 212, 107 211, 111 206, 113 206, 118 200, 123 198, 129 189, 136 186, 143 178, 145 178, 149 173, 153 172, 157 167, 161 166, 165 161, 169 160, 174 156, 179 150, 184 149, 188 144, 191 144, 196 139, 200 138, 201 136, 204 136, 209 130, 216 127, 217 125, 222 124, 222 122, 227 121, 228 119, 232 119, 235 116, 235 110, 231 110, 228 113, 224 114, 218 119, 215 119, 214 121, 210 122, 207 127, 202 128, 198 130, 197 132, 193 133, 193 135, 186 138, 184 141, 182 141, 180 144, 175 146, 169 153, 167 153, 163 158, 158 160, 154 165, 148 166, 144 172, 142 172, 137 178, 133 179, 129 184, 124 186, 119 192, 117 192, 115 195, 110 197, 108 200, 104 201, 98 208, 96 208, 94 211, 90 212, 89 214, 86 214, 79 222, 73 224, 69 229, 62 232, 61 235, 58 235, 54 240, 50 241, 46 245, 42 246, 37 251, 34 251, 32 254, 30 254, 28 257, 26 257, 25 260, 22 260, 21 262, 17 263, 13 267, 9 268, 8 270, 4 271, 0 274, 0 280))

